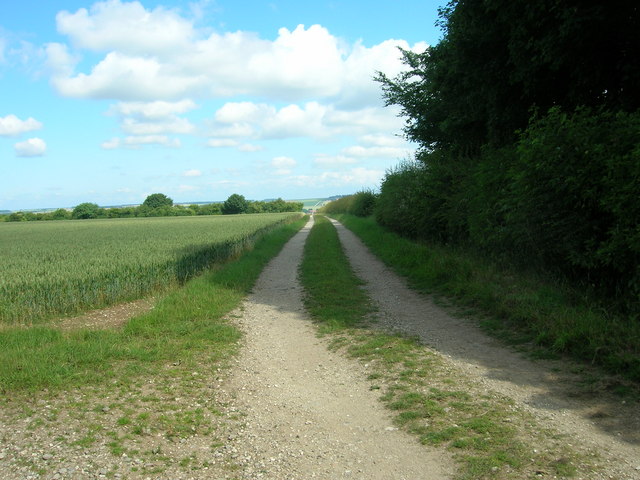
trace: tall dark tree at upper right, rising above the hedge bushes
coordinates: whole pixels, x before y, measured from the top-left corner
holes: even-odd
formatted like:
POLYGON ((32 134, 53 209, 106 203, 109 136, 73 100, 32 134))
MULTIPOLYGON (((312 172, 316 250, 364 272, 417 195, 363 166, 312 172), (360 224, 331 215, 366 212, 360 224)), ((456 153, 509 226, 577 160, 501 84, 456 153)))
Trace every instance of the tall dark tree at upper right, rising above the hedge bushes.
POLYGON ((640 11, 571 0, 460 0, 441 11, 442 40, 403 51, 408 70, 377 79, 423 149, 476 155, 527 126, 532 107, 640 107, 640 11), (534 40, 535 39, 535 40, 534 40))

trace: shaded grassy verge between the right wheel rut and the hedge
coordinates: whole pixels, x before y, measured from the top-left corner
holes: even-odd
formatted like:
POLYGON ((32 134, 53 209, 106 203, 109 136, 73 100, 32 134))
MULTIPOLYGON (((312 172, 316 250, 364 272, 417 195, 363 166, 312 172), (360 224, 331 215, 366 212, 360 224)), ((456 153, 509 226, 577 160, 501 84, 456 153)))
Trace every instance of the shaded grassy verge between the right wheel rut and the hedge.
MULTIPOLYGON (((417 290, 472 308, 491 334, 534 344, 537 355, 569 354, 640 382, 637 319, 615 317, 566 286, 505 271, 469 252, 412 242, 371 218, 336 218, 417 290)), ((622 385, 613 388, 629 391, 622 385)))

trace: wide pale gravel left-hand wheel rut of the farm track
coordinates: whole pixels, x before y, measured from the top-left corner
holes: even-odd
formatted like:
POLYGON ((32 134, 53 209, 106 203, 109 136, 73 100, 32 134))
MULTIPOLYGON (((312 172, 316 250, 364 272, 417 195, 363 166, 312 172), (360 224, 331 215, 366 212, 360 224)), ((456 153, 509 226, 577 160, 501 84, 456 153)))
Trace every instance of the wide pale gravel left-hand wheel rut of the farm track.
POLYGON ((230 390, 246 413, 233 438, 240 478, 451 478, 446 454, 392 426, 362 366, 317 338, 297 279, 310 227, 264 270, 239 320, 245 345, 230 390))

